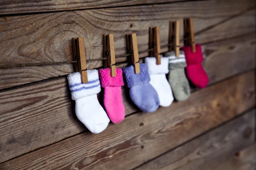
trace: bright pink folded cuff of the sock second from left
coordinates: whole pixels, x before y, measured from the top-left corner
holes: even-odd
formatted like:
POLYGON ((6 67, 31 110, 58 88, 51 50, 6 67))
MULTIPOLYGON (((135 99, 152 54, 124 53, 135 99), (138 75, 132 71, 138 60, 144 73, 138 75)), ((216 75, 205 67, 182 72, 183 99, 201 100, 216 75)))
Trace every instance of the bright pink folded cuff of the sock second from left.
POLYGON ((116 77, 110 76, 110 68, 102 68, 99 70, 100 84, 103 88, 106 86, 123 86, 124 80, 122 77, 122 69, 116 68, 116 77))

